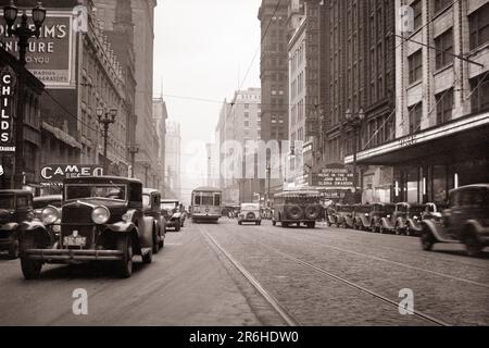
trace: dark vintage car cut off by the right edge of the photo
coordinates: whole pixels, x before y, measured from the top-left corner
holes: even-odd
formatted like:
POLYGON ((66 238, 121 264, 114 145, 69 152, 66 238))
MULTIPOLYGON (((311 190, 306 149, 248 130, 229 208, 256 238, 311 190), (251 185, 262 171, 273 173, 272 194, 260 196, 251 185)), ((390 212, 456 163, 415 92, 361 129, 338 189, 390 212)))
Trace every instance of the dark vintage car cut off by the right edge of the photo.
POLYGON ((463 243, 468 256, 478 256, 489 246, 489 184, 451 190, 441 219, 423 220, 421 241, 424 250, 436 243, 463 243))

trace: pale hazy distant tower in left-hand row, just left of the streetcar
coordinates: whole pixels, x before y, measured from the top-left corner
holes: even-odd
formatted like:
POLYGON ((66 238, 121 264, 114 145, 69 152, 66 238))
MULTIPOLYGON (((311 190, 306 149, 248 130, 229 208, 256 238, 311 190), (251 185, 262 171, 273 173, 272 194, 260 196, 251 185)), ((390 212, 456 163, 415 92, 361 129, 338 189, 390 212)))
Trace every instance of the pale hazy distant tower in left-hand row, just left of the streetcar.
POLYGON ((181 199, 181 136, 180 124, 166 120, 165 191, 166 198, 181 199))

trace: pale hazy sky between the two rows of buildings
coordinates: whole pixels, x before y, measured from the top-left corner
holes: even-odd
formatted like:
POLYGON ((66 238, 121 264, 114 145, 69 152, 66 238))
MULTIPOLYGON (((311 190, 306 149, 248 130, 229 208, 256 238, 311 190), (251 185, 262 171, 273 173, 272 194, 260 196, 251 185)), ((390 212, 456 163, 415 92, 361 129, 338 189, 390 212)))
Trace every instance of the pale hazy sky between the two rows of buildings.
POLYGON ((260 87, 260 51, 243 82, 260 47, 260 3, 158 0, 154 94, 159 96, 163 85, 170 119, 181 124, 183 176, 192 177, 192 182, 183 182, 184 188, 203 179, 205 152, 201 145, 213 140, 224 98, 231 99, 239 85, 243 89, 260 87))

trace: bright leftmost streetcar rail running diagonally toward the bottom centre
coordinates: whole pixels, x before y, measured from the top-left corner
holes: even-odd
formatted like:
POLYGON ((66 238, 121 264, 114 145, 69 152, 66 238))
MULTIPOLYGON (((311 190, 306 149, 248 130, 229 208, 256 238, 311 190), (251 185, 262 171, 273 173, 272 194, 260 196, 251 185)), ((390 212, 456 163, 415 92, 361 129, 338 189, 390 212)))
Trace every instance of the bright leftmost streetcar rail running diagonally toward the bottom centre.
POLYGON ((269 294, 260 282, 247 270, 244 269, 229 252, 227 252, 215 240, 208 232, 203 231, 202 227, 197 224, 200 233, 204 236, 208 243, 216 247, 228 260, 229 262, 250 282, 250 284, 256 289, 256 291, 262 295, 262 297, 272 306, 272 308, 284 319, 284 321, 289 326, 300 326, 300 322, 293 318, 284 307, 280 306, 278 300, 269 294))

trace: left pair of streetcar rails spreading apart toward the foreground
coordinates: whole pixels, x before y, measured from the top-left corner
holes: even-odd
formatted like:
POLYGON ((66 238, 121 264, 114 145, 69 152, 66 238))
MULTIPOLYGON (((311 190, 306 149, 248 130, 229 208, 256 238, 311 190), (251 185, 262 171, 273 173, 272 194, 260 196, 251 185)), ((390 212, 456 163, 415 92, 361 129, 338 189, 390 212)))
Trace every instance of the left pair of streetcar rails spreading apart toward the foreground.
MULTIPOLYGON (((289 320, 291 320, 291 321, 293 321, 294 323, 296 323, 296 325, 299 323, 298 322, 298 320, 297 319, 294 319, 289 312, 287 312, 287 310, 281 306, 281 304, 279 304, 279 302, 278 302, 278 300, 277 299, 275 299, 275 297, 273 297, 271 294, 269 294, 269 291, 267 291, 265 288, 264 288, 264 286, 263 285, 261 285, 260 284, 260 282, 247 270, 247 269, 244 269, 227 250, 225 250, 216 240, 215 240, 215 238, 213 238, 208 232, 204 232, 204 231, 202 231, 202 228, 199 226, 199 229, 201 231, 201 233, 206 237, 206 239, 208 240, 210 240, 215 247, 217 247, 218 249, 220 249, 220 251, 223 253, 223 254, 225 254, 226 256, 226 258, 240 271, 240 273, 241 274, 243 274, 243 276, 244 277, 247 277, 247 279, 248 281, 250 281, 250 283, 256 288, 256 290, 259 290, 260 291, 260 294, 262 295, 262 296, 264 296, 265 297, 265 299, 268 301, 268 299, 272 299, 272 302, 269 302, 273 307, 274 307, 274 309, 276 309, 277 310, 277 312, 279 312, 279 314, 280 315, 283 315, 283 313, 285 312, 286 313, 286 315, 289 315, 290 316, 290 319, 289 320)), ((234 236, 236 236, 236 234, 234 233, 234 236)), ((324 276, 327 276, 327 277, 329 277, 329 278, 333 278, 333 279, 335 279, 335 281, 337 281, 337 282, 340 282, 341 284, 343 284, 343 285, 346 285, 346 286, 348 286, 348 287, 350 287, 350 288, 353 288, 353 289, 355 289, 355 290, 360 290, 360 291, 362 291, 362 293, 364 293, 364 294, 367 294, 367 295, 369 295, 369 296, 372 296, 373 298, 375 298, 375 299, 377 299, 377 300, 380 300, 380 301, 383 301, 384 303, 387 303, 387 304, 389 304, 389 306, 391 306, 391 307, 394 307, 397 310, 399 310, 399 303, 397 302, 397 301, 394 301, 394 300, 391 300, 391 299, 389 299, 389 298, 387 298, 387 297, 385 297, 385 296, 383 296, 383 295, 380 295, 380 294, 378 294, 378 293, 375 293, 375 291, 373 291, 373 290, 371 290, 371 289, 368 289, 368 288, 366 288, 366 287, 363 287, 363 286, 361 286, 361 285, 359 285, 359 284, 355 284, 355 283, 353 283, 353 282, 350 282, 350 281, 348 281, 348 279, 346 279, 346 278, 343 278, 343 277, 341 277, 341 276, 338 276, 338 275, 336 275, 336 274, 334 274, 334 273, 330 273, 330 272, 328 272, 328 271, 326 271, 326 270, 324 270, 324 269, 321 269, 321 268, 318 268, 318 266, 315 266, 314 264, 312 264, 312 263, 309 263, 309 262, 306 262, 306 261, 303 261, 303 260, 300 260, 300 259, 298 259, 298 258, 296 258, 294 256, 292 256, 292 254, 289 254, 289 253, 287 253, 287 252, 284 252, 284 251, 281 251, 281 250, 279 250, 279 249, 277 249, 277 248, 274 248, 274 247, 269 247, 269 246, 267 246, 267 245, 264 245, 263 243, 259 243, 259 241, 256 241, 256 240, 250 240, 249 238, 247 238, 247 237, 243 237, 242 235, 240 235, 243 239, 247 239, 247 240, 249 240, 249 241, 251 241, 252 244, 254 244, 254 245, 260 245, 260 246, 262 246, 263 248, 265 248, 265 249, 267 249, 267 250, 269 250, 269 251, 272 251, 272 252, 274 252, 275 254, 278 254, 278 256, 280 256, 280 257, 283 257, 283 258, 285 258, 285 259, 287 259, 287 260, 290 260, 290 261, 292 261, 293 263, 296 263, 296 264, 299 264, 299 265, 301 265, 302 268, 305 268, 305 269, 309 269, 309 270, 313 270, 313 271, 315 271, 315 272, 317 272, 317 273, 319 273, 319 274, 322 274, 322 275, 324 275, 324 276)), ((442 321, 442 320, 440 320, 440 319, 437 319, 437 318, 435 318, 435 316, 431 316, 431 315, 429 315, 429 314, 427 314, 427 313, 424 313, 424 312, 422 312, 422 311, 418 311, 418 310, 413 310, 413 315, 415 315, 415 316, 417 316, 417 318, 421 318, 422 320, 424 320, 424 321, 427 321, 427 322, 430 322, 430 323, 434 323, 434 324, 437 324, 437 325, 440 325, 440 326, 450 326, 451 324, 449 324, 449 323, 447 323, 447 322, 444 322, 444 321, 442 321)), ((284 318, 284 316, 283 316, 284 318)), ((284 318, 285 319, 285 318, 284 318)), ((290 324, 289 324, 290 325, 290 324)))

